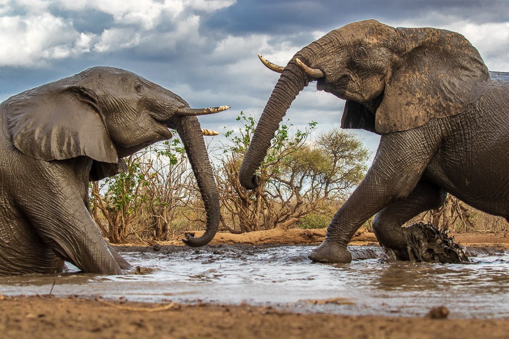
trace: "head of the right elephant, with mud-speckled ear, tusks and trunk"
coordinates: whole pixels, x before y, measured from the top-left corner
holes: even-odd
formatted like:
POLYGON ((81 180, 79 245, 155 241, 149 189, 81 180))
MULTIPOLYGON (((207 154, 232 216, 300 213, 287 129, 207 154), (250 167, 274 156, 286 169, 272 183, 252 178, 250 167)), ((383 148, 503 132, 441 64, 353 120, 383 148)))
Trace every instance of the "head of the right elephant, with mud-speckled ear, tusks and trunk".
POLYGON ((458 115, 482 95, 489 73, 460 34, 434 28, 393 28, 374 20, 348 24, 298 51, 286 67, 262 62, 281 76, 263 110, 239 180, 255 175, 286 110, 311 81, 345 99, 343 128, 388 134, 430 119, 458 115))

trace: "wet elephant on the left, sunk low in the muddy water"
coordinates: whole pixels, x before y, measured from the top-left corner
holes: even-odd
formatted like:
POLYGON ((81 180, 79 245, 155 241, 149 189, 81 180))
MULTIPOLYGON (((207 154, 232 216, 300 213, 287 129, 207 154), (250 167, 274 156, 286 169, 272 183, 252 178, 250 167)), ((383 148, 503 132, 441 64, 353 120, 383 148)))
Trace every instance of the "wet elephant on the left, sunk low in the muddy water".
POLYGON ((229 106, 190 108, 168 89, 114 67, 92 67, 0 103, 3 137, 0 275, 118 275, 131 266, 90 215, 88 182, 125 171, 123 157, 172 137, 184 144, 205 204, 207 244, 219 226, 219 194, 196 116, 229 106))

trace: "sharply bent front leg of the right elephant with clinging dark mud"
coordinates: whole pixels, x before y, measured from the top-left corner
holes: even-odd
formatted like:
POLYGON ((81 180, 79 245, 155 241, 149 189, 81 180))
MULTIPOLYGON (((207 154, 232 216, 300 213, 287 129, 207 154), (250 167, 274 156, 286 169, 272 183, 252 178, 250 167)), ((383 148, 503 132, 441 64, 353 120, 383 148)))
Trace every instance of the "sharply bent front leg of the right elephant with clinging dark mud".
POLYGON ((439 186, 421 180, 410 195, 378 212, 373 232, 391 259, 426 262, 461 262, 464 249, 431 224, 402 225, 416 215, 439 208, 446 193, 439 186))

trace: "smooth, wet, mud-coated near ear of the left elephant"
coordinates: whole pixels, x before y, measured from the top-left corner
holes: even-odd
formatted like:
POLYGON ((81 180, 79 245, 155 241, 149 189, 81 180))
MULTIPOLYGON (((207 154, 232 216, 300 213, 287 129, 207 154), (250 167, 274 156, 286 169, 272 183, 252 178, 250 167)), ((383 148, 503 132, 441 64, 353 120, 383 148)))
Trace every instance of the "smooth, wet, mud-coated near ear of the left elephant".
POLYGON ((87 156, 117 163, 93 92, 78 86, 43 85, 4 105, 4 134, 23 154, 41 160, 87 156))

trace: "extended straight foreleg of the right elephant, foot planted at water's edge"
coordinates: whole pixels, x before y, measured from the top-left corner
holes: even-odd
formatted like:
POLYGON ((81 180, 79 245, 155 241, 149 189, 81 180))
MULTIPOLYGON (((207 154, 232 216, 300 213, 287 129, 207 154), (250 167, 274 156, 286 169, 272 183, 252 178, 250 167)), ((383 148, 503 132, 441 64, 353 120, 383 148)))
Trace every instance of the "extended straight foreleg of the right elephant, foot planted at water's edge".
POLYGON ((355 231, 380 210, 410 195, 440 143, 441 136, 424 127, 383 135, 366 177, 331 220, 325 240, 310 259, 350 262, 347 245, 355 231))

